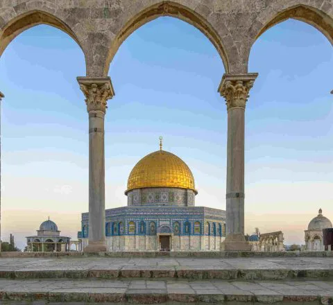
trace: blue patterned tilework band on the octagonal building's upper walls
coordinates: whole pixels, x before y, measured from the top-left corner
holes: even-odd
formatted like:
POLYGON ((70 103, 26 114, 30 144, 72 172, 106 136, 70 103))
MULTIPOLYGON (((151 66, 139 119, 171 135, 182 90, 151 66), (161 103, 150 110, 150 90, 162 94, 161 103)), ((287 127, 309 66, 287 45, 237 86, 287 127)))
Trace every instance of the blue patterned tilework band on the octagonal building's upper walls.
MULTIPOLYGON (((81 234, 84 238, 88 237, 88 222, 89 214, 83 213, 81 234)), ((148 235, 153 238, 157 227, 168 224, 174 236, 191 235, 192 238, 194 236, 205 235, 213 238, 213 223, 216 224, 216 236, 225 236, 225 211, 219 209, 170 205, 132 205, 129 207, 107 209, 105 211, 105 234, 114 237, 138 234, 141 236, 148 235), (130 232, 131 222, 135 224, 135 233, 130 232), (211 224, 208 222, 211 222, 211 224), (151 223, 153 223, 153 231, 151 231, 151 223), (189 223, 189 230, 186 229, 185 223, 189 223), (196 223, 200 223, 200 226, 196 223), (143 232, 141 229, 142 225, 143 232), (119 232, 121 227, 121 232, 119 232), (200 233, 198 233, 198 229, 200 229, 200 233)), ((120 244, 117 247, 120 247, 120 244)), ((115 249, 113 245, 112 248, 115 249)))

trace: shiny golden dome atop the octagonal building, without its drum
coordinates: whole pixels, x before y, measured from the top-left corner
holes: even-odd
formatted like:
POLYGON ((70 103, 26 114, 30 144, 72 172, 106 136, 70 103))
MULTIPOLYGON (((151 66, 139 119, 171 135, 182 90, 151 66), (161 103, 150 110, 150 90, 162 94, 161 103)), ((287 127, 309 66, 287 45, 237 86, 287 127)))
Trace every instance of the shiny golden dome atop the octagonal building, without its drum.
POLYGON ((197 193, 189 166, 164 150, 157 150, 137 162, 128 177, 125 193, 146 187, 179 187, 197 193))

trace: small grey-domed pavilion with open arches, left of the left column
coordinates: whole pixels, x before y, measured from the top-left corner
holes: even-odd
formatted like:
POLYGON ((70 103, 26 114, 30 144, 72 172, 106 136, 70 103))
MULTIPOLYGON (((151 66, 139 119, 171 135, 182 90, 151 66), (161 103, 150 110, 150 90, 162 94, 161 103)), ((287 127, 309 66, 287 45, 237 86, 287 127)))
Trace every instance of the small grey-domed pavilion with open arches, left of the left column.
POLYGON ((71 238, 61 236, 58 226, 50 218, 40 225, 37 235, 26 237, 28 252, 67 252, 70 243, 71 238))

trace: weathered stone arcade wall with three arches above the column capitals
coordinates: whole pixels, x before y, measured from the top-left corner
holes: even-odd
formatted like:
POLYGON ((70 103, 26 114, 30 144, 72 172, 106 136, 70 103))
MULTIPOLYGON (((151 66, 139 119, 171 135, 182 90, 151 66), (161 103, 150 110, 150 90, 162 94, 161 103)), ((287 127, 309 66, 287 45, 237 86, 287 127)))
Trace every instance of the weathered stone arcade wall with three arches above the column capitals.
POLYGON ((90 77, 106 76, 121 42, 142 24, 166 15, 202 30, 219 51, 227 73, 246 73, 257 37, 289 17, 307 21, 333 41, 333 0, 1 0, 0 8, 0 55, 22 30, 51 24, 80 44, 90 77), (101 34, 106 44, 96 42, 101 34))

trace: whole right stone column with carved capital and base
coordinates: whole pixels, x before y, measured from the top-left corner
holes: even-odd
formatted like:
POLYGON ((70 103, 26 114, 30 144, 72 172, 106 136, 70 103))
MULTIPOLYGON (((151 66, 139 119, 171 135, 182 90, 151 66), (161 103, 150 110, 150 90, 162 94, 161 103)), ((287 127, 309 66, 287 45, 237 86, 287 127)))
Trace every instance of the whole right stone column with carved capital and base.
POLYGON ((248 92, 257 73, 224 74, 219 92, 228 110, 226 238, 224 251, 250 251, 244 236, 244 130, 248 92))

